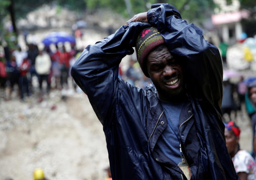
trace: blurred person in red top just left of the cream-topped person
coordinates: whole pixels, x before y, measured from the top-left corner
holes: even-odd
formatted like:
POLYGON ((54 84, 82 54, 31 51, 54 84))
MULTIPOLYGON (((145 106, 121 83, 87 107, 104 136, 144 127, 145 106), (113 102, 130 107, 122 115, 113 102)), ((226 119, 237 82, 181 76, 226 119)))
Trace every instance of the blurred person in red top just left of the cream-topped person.
POLYGON ((31 65, 28 58, 23 59, 23 62, 19 66, 19 71, 20 71, 19 86, 20 86, 21 101, 24 100, 25 91, 27 96, 30 96, 29 87, 28 87, 28 78, 27 78, 27 73, 29 71, 30 66, 31 65))

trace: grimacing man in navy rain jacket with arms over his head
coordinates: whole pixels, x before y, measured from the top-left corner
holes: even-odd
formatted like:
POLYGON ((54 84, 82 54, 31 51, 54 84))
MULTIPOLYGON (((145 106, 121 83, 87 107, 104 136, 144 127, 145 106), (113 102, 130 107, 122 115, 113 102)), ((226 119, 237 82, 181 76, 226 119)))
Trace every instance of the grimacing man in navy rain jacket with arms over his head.
POLYGON ((237 179, 221 120, 222 74, 218 49, 168 4, 89 45, 71 75, 103 125, 112 178, 237 179), (118 78, 134 46, 153 82, 145 90, 118 78))

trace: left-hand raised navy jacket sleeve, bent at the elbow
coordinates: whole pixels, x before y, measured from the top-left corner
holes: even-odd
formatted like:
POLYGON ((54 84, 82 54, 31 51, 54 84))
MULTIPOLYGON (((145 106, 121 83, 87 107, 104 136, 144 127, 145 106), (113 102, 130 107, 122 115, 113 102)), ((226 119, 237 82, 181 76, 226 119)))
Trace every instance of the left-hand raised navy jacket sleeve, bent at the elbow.
POLYGON ((133 22, 122 26, 114 34, 89 45, 71 68, 71 76, 88 95, 90 103, 103 126, 114 114, 118 104, 119 63, 127 54, 134 52, 138 33, 148 23, 133 22))

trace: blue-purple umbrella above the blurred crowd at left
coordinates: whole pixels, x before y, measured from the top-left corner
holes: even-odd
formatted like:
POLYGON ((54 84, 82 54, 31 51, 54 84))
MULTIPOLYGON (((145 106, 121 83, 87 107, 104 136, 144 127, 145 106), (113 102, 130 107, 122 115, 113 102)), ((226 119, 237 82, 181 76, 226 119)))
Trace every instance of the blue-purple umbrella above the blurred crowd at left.
POLYGON ((45 45, 50 45, 50 44, 57 44, 57 43, 76 43, 76 40, 73 36, 69 35, 68 33, 65 32, 53 32, 50 33, 48 36, 46 36, 43 41, 45 45))

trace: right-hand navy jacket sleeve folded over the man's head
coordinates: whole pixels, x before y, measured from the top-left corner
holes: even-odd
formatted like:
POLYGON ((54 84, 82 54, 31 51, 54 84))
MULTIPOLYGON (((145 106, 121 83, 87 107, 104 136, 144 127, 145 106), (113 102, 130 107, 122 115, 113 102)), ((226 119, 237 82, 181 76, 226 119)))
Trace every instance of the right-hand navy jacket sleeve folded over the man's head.
POLYGON ((223 67, 218 48, 204 40, 200 28, 181 19, 172 5, 152 5, 147 18, 164 37, 173 56, 182 61, 187 92, 210 102, 220 112, 223 67))

